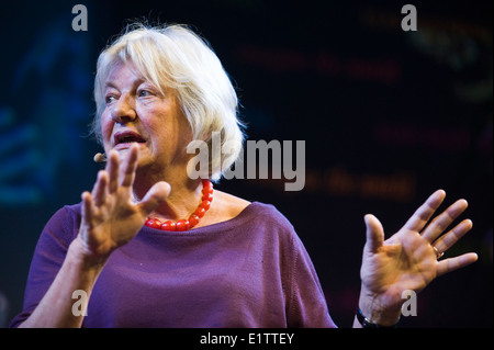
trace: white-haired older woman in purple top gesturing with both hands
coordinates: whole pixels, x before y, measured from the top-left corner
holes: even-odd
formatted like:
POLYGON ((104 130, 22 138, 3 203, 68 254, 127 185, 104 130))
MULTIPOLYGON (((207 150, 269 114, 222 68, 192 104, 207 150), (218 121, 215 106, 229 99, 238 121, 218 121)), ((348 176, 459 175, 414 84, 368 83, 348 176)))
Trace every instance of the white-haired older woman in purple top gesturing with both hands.
MULTIPOLYGON (((178 25, 133 26, 100 55, 94 98, 106 167, 81 203, 47 223, 12 327, 335 327, 290 223, 271 205, 213 192, 244 136, 235 91, 201 38, 178 25), (192 179, 187 146, 214 132, 229 153, 211 154, 207 173, 192 179)), ((364 217, 356 327, 393 326, 403 291, 476 260, 438 261, 472 226, 444 234, 464 200, 427 225, 445 195, 388 240, 364 217)))

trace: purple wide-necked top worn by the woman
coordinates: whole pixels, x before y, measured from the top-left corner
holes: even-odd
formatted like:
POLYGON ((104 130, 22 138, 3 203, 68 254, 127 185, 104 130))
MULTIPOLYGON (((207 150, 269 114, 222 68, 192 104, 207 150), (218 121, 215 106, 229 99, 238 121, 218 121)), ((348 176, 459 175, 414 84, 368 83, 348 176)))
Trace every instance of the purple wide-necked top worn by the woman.
MULTIPOLYGON (((48 290, 79 224, 80 203, 45 226, 11 327, 48 290)), ((108 260, 82 327, 336 326, 292 225, 272 205, 254 202, 235 218, 189 232, 144 226, 108 260)))

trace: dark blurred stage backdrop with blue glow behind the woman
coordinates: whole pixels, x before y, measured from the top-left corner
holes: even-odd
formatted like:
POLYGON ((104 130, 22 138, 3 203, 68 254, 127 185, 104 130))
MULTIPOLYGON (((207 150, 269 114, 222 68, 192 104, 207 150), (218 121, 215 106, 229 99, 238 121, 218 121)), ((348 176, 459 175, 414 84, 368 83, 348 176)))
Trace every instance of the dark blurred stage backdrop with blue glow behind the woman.
POLYGON ((249 139, 305 140, 305 187, 223 180, 274 204, 304 241, 329 311, 351 326, 363 215, 391 235, 436 189, 479 261, 418 294, 403 327, 492 327, 492 1, 9 1, 0 7, 0 326, 21 311, 47 219, 92 188, 96 60, 128 20, 192 25, 232 76, 249 139), (83 3, 88 31, 71 27, 83 3), (324 4, 322 4, 324 3, 324 4), (404 32, 404 4, 418 30, 404 32))

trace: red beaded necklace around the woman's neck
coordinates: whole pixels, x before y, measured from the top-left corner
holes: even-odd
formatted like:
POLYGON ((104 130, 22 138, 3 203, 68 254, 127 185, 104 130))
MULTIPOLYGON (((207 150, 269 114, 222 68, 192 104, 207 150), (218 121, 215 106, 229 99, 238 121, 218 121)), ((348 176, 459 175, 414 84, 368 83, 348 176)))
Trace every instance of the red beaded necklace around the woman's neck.
POLYGON ((201 204, 199 204, 195 212, 189 216, 189 219, 179 219, 177 223, 169 219, 161 223, 157 218, 148 217, 145 225, 162 230, 188 230, 198 225, 199 221, 204 216, 205 212, 207 212, 211 206, 211 202, 213 201, 213 183, 210 180, 202 180, 201 201, 201 204))

